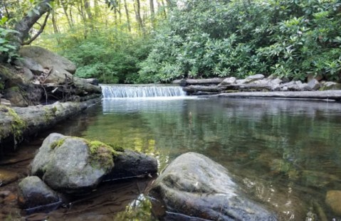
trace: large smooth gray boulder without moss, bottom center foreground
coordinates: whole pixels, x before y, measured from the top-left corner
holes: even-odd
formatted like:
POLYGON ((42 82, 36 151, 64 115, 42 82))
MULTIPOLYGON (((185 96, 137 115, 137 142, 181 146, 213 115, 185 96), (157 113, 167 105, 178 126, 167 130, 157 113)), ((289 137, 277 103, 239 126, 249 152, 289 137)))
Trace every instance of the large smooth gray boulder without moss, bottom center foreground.
POLYGON ((243 195, 226 168, 199 153, 176 158, 150 194, 160 220, 277 220, 243 195))

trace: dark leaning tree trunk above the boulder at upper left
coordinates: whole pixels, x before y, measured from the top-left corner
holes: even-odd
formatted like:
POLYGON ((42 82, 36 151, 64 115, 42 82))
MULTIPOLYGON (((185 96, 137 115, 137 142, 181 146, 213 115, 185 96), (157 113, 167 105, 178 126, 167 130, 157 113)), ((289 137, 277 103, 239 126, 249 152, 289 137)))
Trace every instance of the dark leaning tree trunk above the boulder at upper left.
POLYGON ((20 49, 21 43, 28 37, 28 32, 31 30, 33 25, 45 14, 46 12, 51 10, 51 6, 49 5, 50 2, 53 0, 43 0, 41 3, 34 6, 31 13, 28 13, 24 16, 16 26, 14 30, 17 33, 14 33, 11 36, 11 43, 14 45, 16 50, 20 49))

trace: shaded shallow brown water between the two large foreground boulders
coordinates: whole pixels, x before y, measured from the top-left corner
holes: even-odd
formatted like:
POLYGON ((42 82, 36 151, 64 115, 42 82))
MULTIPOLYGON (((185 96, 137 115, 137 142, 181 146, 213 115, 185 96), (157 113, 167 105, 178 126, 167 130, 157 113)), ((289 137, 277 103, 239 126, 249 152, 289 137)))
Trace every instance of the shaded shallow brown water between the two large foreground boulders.
POLYGON ((154 178, 145 178, 103 183, 89 195, 69 198, 69 203, 58 210, 48 214, 33 213, 25 218, 28 221, 46 219, 90 221, 151 217, 149 201, 144 194, 149 190, 153 180, 154 178))

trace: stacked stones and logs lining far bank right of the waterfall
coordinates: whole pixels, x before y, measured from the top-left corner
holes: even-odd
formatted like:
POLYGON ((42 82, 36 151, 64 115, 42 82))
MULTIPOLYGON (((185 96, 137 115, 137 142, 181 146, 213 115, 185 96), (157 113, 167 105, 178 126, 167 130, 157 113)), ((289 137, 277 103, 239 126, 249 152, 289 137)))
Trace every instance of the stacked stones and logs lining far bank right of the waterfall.
POLYGON ((219 95, 221 97, 271 97, 293 99, 341 99, 341 84, 310 77, 307 82, 288 81, 278 77, 251 75, 236 77, 175 80, 188 95, 219 95))

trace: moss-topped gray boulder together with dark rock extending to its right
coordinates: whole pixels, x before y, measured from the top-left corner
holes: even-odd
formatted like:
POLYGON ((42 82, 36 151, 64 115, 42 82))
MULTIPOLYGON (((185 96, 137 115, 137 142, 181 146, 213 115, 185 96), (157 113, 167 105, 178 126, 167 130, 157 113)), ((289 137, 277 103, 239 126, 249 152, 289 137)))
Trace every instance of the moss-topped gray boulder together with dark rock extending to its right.
POLYGON ((145 154, 56 133, 46 137, 31 163, 31 174, 61 193, 84 193, 104 178, 122 178, 122 174, 130 177, 156 172, 156 159, 145 154))

